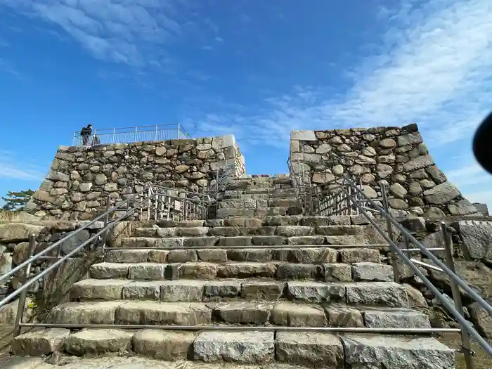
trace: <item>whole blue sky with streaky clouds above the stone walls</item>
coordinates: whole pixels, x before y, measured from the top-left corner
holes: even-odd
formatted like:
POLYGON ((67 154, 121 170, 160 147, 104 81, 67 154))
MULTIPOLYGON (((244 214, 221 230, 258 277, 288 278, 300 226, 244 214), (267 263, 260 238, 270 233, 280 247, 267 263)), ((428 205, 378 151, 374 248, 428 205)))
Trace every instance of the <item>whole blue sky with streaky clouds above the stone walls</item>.
POLYGON ((492 205, 474 129, 492 108, 490 0, 0 0, 0 193, 37 188, 72 132, 181 122, 287 171, 292 129, 417 122, 492 205))

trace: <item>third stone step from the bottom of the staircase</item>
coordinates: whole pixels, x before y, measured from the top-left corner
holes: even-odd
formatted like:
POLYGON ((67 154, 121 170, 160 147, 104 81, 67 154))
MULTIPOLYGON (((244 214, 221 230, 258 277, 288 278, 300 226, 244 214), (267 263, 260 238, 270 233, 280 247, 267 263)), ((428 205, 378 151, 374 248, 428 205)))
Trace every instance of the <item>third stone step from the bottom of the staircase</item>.
POLYGON ((282 283, 271 278, 86 279, 72 286, 70 297, 73 300, 150 299, 166 302, 207 302, 231 298, 270 301, 282 298, 315 304, 343 302, 349 305, 409 307, 405 287, 393 282, 325 283, 302 280, 282 283))

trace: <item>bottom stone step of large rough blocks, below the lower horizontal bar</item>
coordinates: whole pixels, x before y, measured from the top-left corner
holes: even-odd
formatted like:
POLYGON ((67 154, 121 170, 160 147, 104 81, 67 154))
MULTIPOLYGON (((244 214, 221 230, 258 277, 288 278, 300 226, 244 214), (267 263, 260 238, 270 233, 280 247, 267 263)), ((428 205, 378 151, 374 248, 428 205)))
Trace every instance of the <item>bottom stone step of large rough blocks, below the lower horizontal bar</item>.
MULTIPOLYGON (((286 369, 299 368, 296 365, 309 368, 455 368, 455 353, 452 349, 435 338, 418 336, 94 328, 70 332, 62 328, 48 328, 15 337, 12 347, 15 356, 48 356, 53 351, 84 356, 83 361, 68 363, 66 366, 69 369, 164 369, 171 366, 244 369, 245 365, 248 368, 259 368, 250 366, 252 364, 262 365, 261 368, 286 369), (138 356, 115 356, 124 351, 133 351, 138 356), (114 354, 101 357, 101 354, 108 353, 114 354), (183 361, 186 359, 193 361, 183 361), (169 364, 166 361, 177 362, 169 364)), ((44 364, 42 360, 37 363, 44 364)), ((20 365, 14 366, 20 368, 20 365)))

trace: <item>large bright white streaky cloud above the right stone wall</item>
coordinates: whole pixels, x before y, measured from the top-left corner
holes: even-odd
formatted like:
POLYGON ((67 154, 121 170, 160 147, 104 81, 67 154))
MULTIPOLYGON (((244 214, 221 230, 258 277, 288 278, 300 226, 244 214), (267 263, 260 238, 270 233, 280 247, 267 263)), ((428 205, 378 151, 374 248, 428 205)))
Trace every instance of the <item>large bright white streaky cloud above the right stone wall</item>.
POLYGON ((383 10, 382 42, 347 71, 347 91, 297 86, 250 116, 228 110, 214 121, 204 115, 200 124, 223 121, 240 131, 246 119, 243 136, 270 145, 290 129, 409 122, 418 122, 434 146, 470 138, 492 100, 491 1, 403 0, 383 10))

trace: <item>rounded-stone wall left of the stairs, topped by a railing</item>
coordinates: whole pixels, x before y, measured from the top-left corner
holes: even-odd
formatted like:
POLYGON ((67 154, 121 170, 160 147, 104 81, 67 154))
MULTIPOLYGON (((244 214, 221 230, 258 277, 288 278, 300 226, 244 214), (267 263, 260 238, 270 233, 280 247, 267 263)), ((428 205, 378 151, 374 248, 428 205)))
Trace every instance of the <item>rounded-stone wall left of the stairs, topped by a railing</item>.
POLYGON ((202 191, 217 169, 245 160, 233 135, 148 143, 118 143, 93 148, 60 146, 46 180, 26 210, 42 219, 92 219, 114 201, 135 192, 134 181, 202 191))

